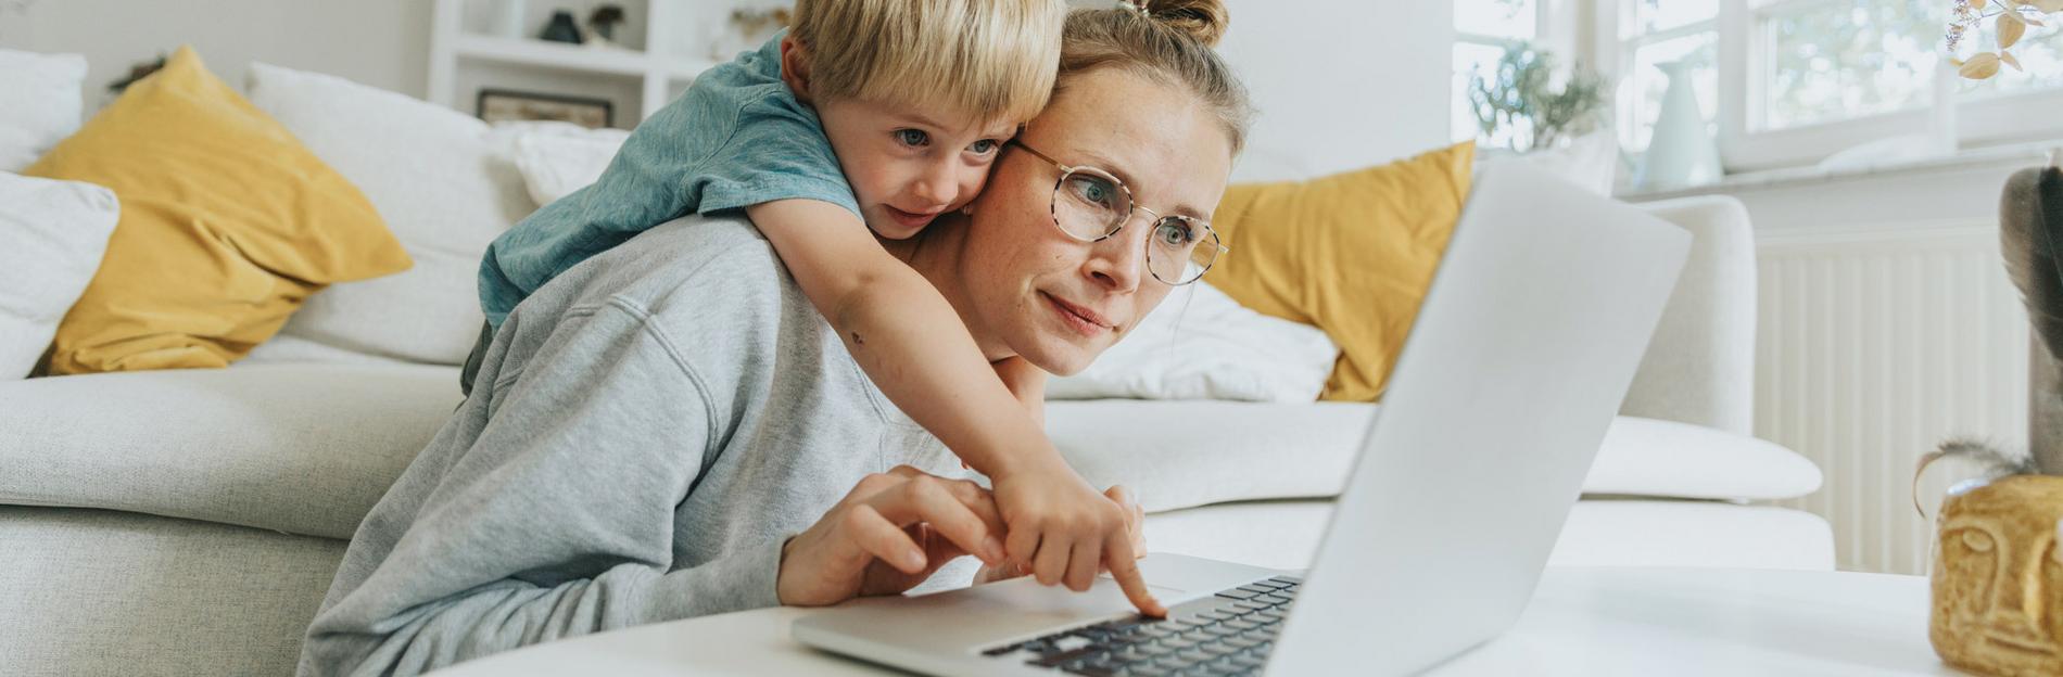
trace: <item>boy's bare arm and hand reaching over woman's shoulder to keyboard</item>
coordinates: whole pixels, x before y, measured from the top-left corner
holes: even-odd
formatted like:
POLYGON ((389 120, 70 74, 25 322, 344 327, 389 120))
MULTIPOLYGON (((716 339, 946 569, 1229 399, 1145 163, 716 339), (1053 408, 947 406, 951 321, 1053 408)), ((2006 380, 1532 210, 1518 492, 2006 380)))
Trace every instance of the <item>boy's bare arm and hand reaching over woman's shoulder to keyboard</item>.
POLYGON ((1042 584, 1065 576, 1071 588, 1087 590, 1110 555, 1133 605, 1166 615, 1131 557, 1122 510, 1060 458, 930 281, 836 204, 776 200, 745 213, 875 386, 994 479, 1011 559, 1029 561, 1042 584))

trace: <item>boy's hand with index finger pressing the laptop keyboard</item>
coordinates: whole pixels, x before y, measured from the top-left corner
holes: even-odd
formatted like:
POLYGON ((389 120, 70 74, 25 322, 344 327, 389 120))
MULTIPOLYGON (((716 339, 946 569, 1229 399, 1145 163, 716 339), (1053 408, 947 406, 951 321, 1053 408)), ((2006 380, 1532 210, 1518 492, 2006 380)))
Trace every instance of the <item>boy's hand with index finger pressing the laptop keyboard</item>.
POLYGON ((1095 493, 1058 458, 994 477, 994 487, 996 508, 1009 528, 1005 551, 1013 566, 1029 563, 1040 584, 1065 582, 1075 592, 1087 590, 1095 574, 1108 568, 1139 613, 1168 615, 1139 574, 1133 508, 1095 493))

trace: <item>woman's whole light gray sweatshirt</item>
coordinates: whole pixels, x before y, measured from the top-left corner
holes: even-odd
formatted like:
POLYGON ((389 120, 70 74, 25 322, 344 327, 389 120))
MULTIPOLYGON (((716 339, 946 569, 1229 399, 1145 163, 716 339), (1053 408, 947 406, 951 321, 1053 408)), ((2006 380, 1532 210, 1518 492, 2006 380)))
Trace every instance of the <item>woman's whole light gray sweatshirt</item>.
POLYGON ((772 607, 786 537, 899 462, 959 475, 751 223, 660 225, 510 316, 359 524, 299 673, 408 675, 772 607))

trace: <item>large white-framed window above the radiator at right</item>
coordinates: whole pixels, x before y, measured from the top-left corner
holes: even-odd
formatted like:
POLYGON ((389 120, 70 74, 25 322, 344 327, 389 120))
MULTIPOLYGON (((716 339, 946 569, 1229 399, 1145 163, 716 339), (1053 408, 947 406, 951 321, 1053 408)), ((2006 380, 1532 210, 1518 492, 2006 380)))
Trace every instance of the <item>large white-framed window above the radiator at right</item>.
MULTIPOLYGON (((1993 8, 1999 2, 1991 2, 1993 8)), ((1731 171, 1811 165, 1869 140, 1923 134, 1945 70, 1947 0, 1595 0, 1595 43, 1619 83, 1626 151, 1646 149, 1665 66, 1681 62, 1731 171), (1607 52, 1609 50, 1609 52, 1607 52)), ((1964 37, 1962 56, 1997 35, 1964 37)), ((1962 144, 2063 136, 2063 23, 2011 47, 2026 70, 1945 83, 1962 144), (2018 114, 2016 114, 2018 109, 2018 114)))

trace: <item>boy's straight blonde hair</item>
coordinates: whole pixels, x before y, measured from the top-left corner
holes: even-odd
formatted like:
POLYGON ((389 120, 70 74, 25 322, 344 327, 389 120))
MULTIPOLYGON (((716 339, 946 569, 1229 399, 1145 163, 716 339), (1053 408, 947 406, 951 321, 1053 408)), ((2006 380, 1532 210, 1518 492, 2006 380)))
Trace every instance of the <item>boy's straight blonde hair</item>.
POLYGON ((1065 0, 796 0, 817 97, 937 103, 1025 122, 1046 107, 1065 0))

